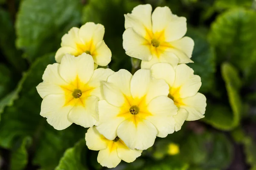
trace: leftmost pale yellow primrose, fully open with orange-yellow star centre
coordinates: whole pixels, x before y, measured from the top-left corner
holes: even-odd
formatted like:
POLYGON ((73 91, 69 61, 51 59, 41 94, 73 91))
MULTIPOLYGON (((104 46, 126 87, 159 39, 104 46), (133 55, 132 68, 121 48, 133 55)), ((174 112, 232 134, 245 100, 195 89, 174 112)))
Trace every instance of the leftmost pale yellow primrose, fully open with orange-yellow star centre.
POLYGON ((78 57, 66 54, 61 64, 47 66, 43 82, 36 87, 43 98, 40 115, 57 130, 72 123, 92 127, 98 120, 101 82, 111 74, 111 69, 94 70, 93 57, 89 54, 78 57))

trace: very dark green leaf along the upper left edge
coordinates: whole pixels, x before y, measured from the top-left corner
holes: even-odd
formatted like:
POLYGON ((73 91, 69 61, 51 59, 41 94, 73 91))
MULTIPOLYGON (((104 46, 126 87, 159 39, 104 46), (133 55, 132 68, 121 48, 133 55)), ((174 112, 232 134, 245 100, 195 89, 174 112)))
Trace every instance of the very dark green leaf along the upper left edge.
POLYGON ((15 48, 15 30, 9 13, 0 8, 0 49, 4 57, 17 71, 26 69, 26 62, 21 52, 15 48))

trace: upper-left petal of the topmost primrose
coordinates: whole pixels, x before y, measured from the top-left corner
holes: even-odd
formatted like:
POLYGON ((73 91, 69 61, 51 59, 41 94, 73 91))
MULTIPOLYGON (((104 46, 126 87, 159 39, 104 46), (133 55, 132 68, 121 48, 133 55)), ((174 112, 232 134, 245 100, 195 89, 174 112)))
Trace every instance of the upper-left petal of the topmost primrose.
POLYGON ((125 15, 125 29, 133 28, 138 34, 145 36, 145 28, 152 29, 151 12, 150 4, 136 6, 131 14, 125 15))

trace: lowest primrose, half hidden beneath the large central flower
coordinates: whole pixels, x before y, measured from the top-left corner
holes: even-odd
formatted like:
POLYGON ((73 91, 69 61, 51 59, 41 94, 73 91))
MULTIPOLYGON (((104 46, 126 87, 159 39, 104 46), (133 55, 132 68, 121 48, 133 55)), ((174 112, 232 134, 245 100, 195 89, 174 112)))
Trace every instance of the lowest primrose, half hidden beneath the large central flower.
POLYGON ((95 126, 87 130, 85 140, 90 150, 99 150, 97 161, 108 168, 116 167, 121 160, 133 162, 142 153, 142 150, 128 148, 119 137, 113 140, 106 139, 95 126))

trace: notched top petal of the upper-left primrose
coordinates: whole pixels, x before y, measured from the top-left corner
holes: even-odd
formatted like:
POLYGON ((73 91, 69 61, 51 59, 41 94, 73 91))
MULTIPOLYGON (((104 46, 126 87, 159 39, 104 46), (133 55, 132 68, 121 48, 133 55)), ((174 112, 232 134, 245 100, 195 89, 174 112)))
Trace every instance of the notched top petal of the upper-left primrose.
POLYGON ((105 28, 101 24, 95 24, 92 22, 85 23, 79 30, 79 37, 84 42, 93 41, 93 44, 103 40, 105 28))

